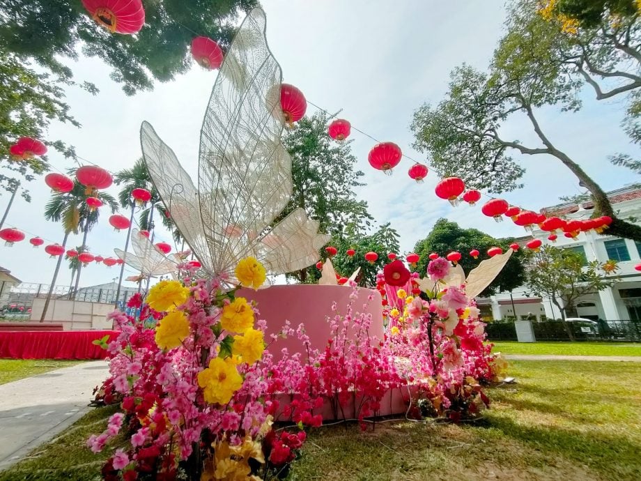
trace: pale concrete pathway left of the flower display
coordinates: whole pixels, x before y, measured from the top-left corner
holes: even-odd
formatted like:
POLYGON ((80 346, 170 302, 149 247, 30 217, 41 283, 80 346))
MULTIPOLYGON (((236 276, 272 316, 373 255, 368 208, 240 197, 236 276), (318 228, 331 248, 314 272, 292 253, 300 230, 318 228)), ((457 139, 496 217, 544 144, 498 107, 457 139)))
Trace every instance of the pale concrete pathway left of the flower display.
POLYGON ((100 360, 0 385, 0 470, 81 418, 108 374, 100 360))

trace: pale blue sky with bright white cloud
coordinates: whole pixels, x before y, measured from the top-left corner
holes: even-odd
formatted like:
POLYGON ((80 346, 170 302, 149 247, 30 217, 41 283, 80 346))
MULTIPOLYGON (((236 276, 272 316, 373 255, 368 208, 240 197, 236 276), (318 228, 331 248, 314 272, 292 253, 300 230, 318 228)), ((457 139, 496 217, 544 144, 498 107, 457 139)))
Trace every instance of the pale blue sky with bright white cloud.
MULTIPOLYGON (((449 73, 461 63, 485 69, 502 35, 505 10, 501 1, 285 1, 263 0, 267 14, 267 38, 272 53, 283 70, 284 82, 298 86, 309 102, 340 116, 383 142, 395 142, 403 154, 429 164, 425 155, 412 149, 412 114, 424 102, 439 102, 447 92, 449 73)), ((109 79, 110 69, 99 59, 81 58, 71 62, 75 77, 94 82, 98 96, 70 88, 67 102, 82 128, 55 123, 49 138, 62 139, 75 146, 84 159, 118 171, 141 156, 139 128, 149 121, 160 137, 178 155, 188 171, 195 171, 199 131, 217 71, 199 66, 166 84, 156 84, 151 92, 125 96, 109 79)), ((578 113, 543 109, 538 112, 541 126, 553 143, 590 174, 605 190, 620 188, 638 179, 630 171, 613 167, 608 155, 616 152, 638 154, 619 123, 624 113, 621 100, 596 102, 592 91, 582 96, 584 108, 578 113)), ((315 107, 308 105, 307 112, 315 107)), ((504 126, 502 137, 519 139, 538 146, 532 128, 523 119, 504 126)), ((438 176, 428 174, 424 183, 407 175, 413 164, 403 158, 392 176, 376 171, 367 162, 374 142, 353 131, 353 153, 358 168, 365 172, 366 186, 357 197, 369 204, 379 224, 391 222, 401 236, 401 252, 411 252, 426 237, 440 217, 474 227, 495 237, 520 236, 524 231, 512 222, 494 222, 481 214, 480 206, 454 208, 438 199, 434 187, 438 176)), ((527 169, 525 187, 502 194, 511 204, 533 210, 558 203, 559 196, 581 192, 576 178, 555 158, 522 156, 514 152, 527 169)), ((49 160, 53 171, 72 167, 57 153, 49 160)), ((43 178, 29 183, 31 204, 16 197, 4 227, 17 227, 27 238, 38 235, 45 243, 61 242, 59 224, 43 219, 49 188, 43 178)), ((109 189, 116 195, 117 188, 109 189)), ((0 197, 4 211, 8 195, 0 197)), ((101 215, 100 224, 89 233, 87 244, 93 254, 113 256, 122 248, 125 232, 115 232, 101 215)), ((171 238, 157 229, 158 240, 171 238)), ((79 236, 69 246, 82 243, 79 236)), ((46 245, 46 244, 45 244, 46 245)), ((51 282, 56 259, 49 259, 43 247, 36 250, 28 242, 11 249, 0 246, 0 266, 8 268, 23 282, 51 282)), ((70 282, 70 270, 63 263, 56 284, 70 282)), ((134 274, 125 269, 125 277, 134 274)), ((83 270, 81 286, 111 282, 116 267, 91 264, 83 270)))

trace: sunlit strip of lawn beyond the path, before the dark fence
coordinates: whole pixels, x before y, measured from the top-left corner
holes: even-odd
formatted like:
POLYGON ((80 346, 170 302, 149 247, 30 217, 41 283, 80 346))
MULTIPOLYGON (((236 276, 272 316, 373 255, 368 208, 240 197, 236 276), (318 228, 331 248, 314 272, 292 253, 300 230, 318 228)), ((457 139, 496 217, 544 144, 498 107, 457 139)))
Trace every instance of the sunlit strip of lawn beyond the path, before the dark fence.
POLYGON ((493 342, 493 351, 504 354, 562 356, 641 356, 641 344, 628 342, 493 342))

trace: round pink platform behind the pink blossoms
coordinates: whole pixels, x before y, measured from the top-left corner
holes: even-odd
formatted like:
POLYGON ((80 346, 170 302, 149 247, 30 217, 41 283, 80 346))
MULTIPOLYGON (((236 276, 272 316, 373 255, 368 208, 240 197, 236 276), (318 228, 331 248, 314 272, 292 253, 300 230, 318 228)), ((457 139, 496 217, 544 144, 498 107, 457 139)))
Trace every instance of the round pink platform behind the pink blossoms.
MULTIPOLYGON (((325 349, 327 339, 330 339, 330 326, 327 323, 327 316, 334 316, 332 303, 337 304, 337 313, 345 314, 352 289, 346 286, 320 286, 313 284, 293 284, 286 286, 272 286, 267 289, 254 291, 252 289, 240 289, 236 296, 242 296, 248 300, 256 301, 260 319, 267 321, 267 333, 279 333, 285 321, 290 321, 291 327, 296 328, 298 324, 304 323, 305 331, 309 335, 311 349, 325 349)), ((380 301, 380 293, 372 289, 357 289, 357 299, 353 301, 353 312, 361 312, 372 315, 369 334, 383 339, 383 306, 380 301), (372 300, 368 297, 372 295, 372 300), (365 308, 363 306, 365 305, 365 308)), ((268 341, 269 342, 269 341, 268 341)), ((270 352, 276 356, 278 352, 287 348, 289 353, 300 352, 303 349, 302 343, 297 337, 279 338, 270 346, 270 352)), ((281 404, 288 402, 288 396, 280 399, 281 404)), ((351 403, 350 403, 351 404, 351 403)), ((390 415, 404 413, 406 406, 399 390, 387 392, 381 400, 381 409, 378 415, 390 415)), ((330 420, 334 418, 329 402, 321 410, 323 418, 330 420)), ((339 418, 353 418, 353 406, 343 406, 339 418)))

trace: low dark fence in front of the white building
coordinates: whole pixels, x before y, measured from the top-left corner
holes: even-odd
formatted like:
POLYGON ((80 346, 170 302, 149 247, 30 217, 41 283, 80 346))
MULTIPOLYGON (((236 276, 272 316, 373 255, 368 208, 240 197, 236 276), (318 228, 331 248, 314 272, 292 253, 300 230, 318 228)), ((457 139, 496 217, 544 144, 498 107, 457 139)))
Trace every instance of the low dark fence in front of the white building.
MULTIPOLYGON (((576 341, 641 342, 641 321, 597 321, 597 323, 568 323, 576 341)), ((561 321, 533 322, 537 341, 569 341, 570 337, 561 321)), ((516 341, 513 323, 488 323, 488 340, 516 341)))

